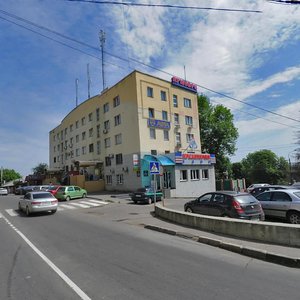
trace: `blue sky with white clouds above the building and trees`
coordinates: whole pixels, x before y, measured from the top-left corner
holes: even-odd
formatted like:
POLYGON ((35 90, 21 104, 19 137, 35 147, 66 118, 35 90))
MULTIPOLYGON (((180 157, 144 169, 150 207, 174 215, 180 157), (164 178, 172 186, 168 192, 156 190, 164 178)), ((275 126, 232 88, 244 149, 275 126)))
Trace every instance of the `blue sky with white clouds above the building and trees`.
POLYGON ((264 0, 134 2, 262 13, 1 1, 0 166, 26 176, 37 164, 49 163, 48 133, 74 108, 76 78, 79 103, 87 99, 87 64, 91 95, 102 89, 100 30, 106 33, 107 86, 134 69, 166 80, 168 73, 184 77, 185 66, 189 81, 277 114, 198 88, 234 114, 240 136, 232 161, 260 149, 294 160, 300 129, 291 120, 300 120, 300 5, 264 0))

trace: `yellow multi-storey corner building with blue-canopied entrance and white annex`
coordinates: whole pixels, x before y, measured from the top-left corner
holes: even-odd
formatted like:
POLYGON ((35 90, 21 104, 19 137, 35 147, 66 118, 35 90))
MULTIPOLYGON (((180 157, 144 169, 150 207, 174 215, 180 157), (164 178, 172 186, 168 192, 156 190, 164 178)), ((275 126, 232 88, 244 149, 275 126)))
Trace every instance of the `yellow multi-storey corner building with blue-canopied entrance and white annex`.
POLYGON ((215 190, 215 158, 201 153, 197 87, 176 77, 169 82, 134 71, 87 99, 50 131, 49 154, 51 169, 106 190, 154 181, 172 197, 215 190))

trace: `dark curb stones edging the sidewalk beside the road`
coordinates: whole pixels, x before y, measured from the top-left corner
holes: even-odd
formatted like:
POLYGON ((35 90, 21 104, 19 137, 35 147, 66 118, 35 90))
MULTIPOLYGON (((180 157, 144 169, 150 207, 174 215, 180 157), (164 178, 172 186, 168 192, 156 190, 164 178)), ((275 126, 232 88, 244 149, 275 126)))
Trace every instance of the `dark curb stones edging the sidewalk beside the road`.
POLYGON ((155 225, 144 225, 144 228, 153 231, 175 235, 181 238, 190 239, 198 243, 206 244, 213 247, 218 247, 227 251, 238 253, 244 256, 252 257, 266 262, 283 265, 290 268, 300 268, 300 258, 289 257, 281 254, 275 254, 264 250, 245 247, 237 244, 222 242, 221 240, 208 238, 205 236, 195 236, 186 232, 179 232, 172 229, 166 229, 155 225))

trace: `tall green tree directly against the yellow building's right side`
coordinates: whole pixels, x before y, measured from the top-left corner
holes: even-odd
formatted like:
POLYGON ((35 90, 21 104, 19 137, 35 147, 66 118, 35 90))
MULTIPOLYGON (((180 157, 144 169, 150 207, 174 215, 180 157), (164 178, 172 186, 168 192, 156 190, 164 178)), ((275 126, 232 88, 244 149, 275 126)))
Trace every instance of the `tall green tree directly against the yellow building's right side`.
POLYGON ((234 154, 239 136, 233 114, 223 105, 212 105, 205 95, 198 96, 200 139, 202 151, 216 155, 216 177, 231 176, 228 156, 234 154))

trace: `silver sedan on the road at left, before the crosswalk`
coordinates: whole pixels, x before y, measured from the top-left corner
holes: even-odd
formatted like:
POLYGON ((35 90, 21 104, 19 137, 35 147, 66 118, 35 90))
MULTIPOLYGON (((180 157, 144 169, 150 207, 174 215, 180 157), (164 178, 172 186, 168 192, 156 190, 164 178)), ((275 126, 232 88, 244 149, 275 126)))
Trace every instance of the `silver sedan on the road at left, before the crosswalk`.
POLYGON ((19 200, 19 210, 27 216, 36 212, 48 212, 54 214, 57 210, 58 201, 49 192, 28 192, 19 200))

